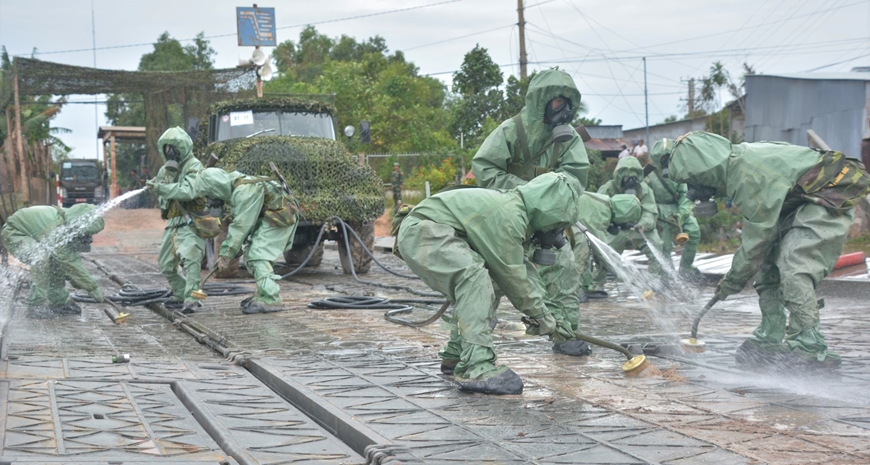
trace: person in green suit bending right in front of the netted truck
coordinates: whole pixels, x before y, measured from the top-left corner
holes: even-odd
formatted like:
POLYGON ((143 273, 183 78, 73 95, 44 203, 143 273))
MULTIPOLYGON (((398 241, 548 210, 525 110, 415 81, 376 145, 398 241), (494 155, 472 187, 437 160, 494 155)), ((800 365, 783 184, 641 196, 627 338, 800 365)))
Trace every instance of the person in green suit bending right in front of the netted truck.
POLYGON ((242 313, 270 313, 283 309, 281 288, 272 264, 293 246, 296 203, 272 180, 238 171, 206 168, 196 177, 196 191, 227 208, 231 222, 220 247, 218 268, 227 268, 245 245, 245 266, 257 281, 257 294, 242 301, 242 313))

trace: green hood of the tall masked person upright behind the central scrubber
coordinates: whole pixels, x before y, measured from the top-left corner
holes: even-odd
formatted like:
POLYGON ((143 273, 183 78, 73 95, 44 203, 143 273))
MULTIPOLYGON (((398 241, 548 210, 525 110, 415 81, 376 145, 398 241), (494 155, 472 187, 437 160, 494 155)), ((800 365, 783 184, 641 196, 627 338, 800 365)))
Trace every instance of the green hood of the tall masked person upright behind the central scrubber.
POLYGON ((580 91, 570 74, 559 69, 548 69, 535 74, 529 83, 526 106, 523 107, 523 123, 526 130, 533 133, 532 137, 536 129, 549 133, 550 127, 544 123, 544 113, 547 104, 556 97, 570 100, 571 108, 576 114, 580 105, 580 91))

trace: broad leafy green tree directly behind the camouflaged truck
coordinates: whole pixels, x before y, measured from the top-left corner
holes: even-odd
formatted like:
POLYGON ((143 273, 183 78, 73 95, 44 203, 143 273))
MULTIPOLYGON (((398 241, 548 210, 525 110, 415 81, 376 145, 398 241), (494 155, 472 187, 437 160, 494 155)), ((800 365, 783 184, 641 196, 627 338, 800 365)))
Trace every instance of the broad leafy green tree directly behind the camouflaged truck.
POLYGON ((446 131, 446 90, 437 79, 419 76, 401 52, 389 53, 380 36, 357 41, 337 39, 313 26, 298 41, 285 41, 272 56, 279 76, 266 83, 267 93, 335 94, 339 127, 371 123, 372 144, 358 138, 352 151, 438 152, 455 148, 446 131))

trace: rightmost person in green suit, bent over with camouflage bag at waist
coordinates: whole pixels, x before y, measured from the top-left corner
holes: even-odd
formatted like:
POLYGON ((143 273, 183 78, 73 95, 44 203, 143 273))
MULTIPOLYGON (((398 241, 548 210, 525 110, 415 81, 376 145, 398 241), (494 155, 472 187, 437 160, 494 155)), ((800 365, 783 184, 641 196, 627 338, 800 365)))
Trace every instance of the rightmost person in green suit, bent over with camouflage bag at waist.
POLYGON ((689 199, 727 196, 743 215, 740 248, 716 287, 725 299, 755 277, 761 324, 738 358, 838 366, 819 330, 815 289, 839 258, 855 199, 870 191, 863 165, 840 152, 693 132, 677 139, 670 177, 688 183, 689 199))

